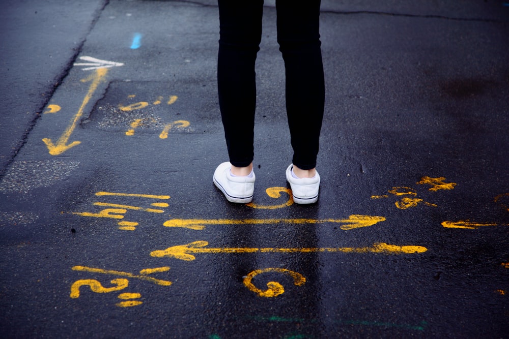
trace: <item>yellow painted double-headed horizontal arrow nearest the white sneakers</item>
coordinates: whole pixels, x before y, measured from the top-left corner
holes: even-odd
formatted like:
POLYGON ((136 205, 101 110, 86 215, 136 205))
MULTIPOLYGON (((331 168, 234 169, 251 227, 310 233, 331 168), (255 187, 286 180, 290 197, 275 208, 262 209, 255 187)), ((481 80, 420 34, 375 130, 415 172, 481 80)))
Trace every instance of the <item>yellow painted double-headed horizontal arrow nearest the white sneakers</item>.
POLYGON ((205 225, 274 225, 274 224, 323 224, 340 223, 344 224, 342 230, 351 230, 354 228, 373 226, 379 222, 385 221, 384 217, 375 217, 372 215, 352 214, 348 219, 172 219, 164 222, 166 227, 182 227, 192 230, 203 230, 205 225))

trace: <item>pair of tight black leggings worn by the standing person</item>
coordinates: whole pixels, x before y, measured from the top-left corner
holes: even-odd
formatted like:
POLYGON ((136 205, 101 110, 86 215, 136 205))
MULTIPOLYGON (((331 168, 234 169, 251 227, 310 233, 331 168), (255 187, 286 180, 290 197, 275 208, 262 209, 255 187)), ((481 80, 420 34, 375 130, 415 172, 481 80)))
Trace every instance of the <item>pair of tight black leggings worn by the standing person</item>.
MULTIPOLYGON (((218 0, 218 4, 219 108, 230 162, 245 167, 254 157, 254 63, 262 39, 263 0, 218 0)), ((308 170, 316 167, 325 101, 320 0, 276 0, 276 11, 293 164, 308 170)))

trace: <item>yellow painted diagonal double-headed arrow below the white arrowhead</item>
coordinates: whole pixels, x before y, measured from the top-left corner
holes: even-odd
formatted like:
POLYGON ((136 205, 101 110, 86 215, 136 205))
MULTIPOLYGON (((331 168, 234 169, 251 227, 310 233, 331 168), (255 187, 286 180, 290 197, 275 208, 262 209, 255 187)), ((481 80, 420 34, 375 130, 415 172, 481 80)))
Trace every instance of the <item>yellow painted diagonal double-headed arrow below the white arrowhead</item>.
POLYGON ((72 133, 76 129, 79 119, 83 115, 83 111, 84 111, 85 107, 89 103, 90 99, 92 99, 92 96, 94 95, 95 91, 97 90, 97 87, 99 86, 99 84, 105 80, 107 73, 108 73, 108 69, 100 68, 100 69, 97 69, 94 72, 94 74, 92 74, 90 77, 81 80, 82 82, 92 81, 92 84, 90 85, 87 95, 83 99, 83 102, 81 103, 81 106, 79 107, 78 112, 76 113, 76 115, 74 115, 71 125, 65 130, 64 134, 62 134, 60 136, 59 140, 56 141, 56 143, 53 143, 51 141, 51 139, 49 139, 49 138, 42 139, 42 141, 46 144, 46 147, 48 147, 50 155, 52 155, 52 156, 61 155, 63 152, 65 152, 69 148, 79 145, 81 143, 81 141, 73 141, 70 144, 68 144, 69 138, 71 137, 72 133))

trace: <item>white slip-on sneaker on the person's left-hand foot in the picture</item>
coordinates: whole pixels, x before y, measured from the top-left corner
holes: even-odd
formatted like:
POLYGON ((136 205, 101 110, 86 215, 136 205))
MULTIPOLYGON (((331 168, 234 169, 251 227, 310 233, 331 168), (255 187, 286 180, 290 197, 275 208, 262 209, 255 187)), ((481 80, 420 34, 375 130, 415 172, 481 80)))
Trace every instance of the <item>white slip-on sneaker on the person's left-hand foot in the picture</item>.
POLYGON ((225 162, 217 166, 214 172, 214 184, 230 202, 248 203, 253 200, 254 172, 252 177, 232 176, 232 164, 225 162))

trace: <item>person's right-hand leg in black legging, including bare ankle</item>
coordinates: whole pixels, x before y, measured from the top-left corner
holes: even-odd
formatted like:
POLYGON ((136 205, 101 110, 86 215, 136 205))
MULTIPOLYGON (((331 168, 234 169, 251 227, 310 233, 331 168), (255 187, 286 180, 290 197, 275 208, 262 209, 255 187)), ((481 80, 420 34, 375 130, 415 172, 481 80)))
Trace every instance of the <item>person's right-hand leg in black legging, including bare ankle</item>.
POLYGON ((276 0, 276 8, 277 41, 286 69, 294 173, 298 177, 313 177, 325 101, 320 1, 276 0))

